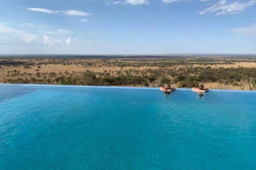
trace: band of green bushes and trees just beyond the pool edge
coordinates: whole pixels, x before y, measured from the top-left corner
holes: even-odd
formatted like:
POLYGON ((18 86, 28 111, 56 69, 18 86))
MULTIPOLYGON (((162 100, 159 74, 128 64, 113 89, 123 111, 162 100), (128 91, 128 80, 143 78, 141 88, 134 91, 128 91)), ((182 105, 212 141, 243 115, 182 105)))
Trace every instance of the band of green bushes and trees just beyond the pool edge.
MULTIPOLYGON (((211 68, 192 67, 137 69, 107 71, 103 73, 86 70, 84 72, 40 73, 39 68, 35 75, 29 78, 17 78, 19 71, 9 73, 12 78, 7 78, 8 83, 33 83, 33 84, 61 84, 61 85, 107 85, 107 86, 143 86, 158 87, 165 83, 175 83, 178 88, 192 88, 198 82, 218 82, 222 85, 234 85, 244 89, 256 90, 256 68, 211 68)), ((23 73, 24 74, 24 73, 23 73)))

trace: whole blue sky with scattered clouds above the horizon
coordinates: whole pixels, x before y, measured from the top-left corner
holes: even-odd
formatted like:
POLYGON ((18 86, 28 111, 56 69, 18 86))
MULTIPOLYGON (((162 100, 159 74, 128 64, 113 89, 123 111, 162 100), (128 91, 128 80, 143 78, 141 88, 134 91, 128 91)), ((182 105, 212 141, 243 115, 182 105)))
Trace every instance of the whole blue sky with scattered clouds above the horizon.
POLYGON ((0 54, 256 54, 256 0, 0 0, 0 54))

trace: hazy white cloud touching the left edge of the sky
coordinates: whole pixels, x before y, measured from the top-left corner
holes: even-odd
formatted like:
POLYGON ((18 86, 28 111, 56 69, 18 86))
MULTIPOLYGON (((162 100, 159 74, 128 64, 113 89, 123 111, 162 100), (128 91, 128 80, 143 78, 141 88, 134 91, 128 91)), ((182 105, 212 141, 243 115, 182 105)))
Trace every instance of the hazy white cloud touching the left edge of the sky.
POLYGON ((4 25, 0 25, 0 42, 4 43, 32 43, 38 39, 36 34, 28 34, 24 31, 19 31, 4 25))

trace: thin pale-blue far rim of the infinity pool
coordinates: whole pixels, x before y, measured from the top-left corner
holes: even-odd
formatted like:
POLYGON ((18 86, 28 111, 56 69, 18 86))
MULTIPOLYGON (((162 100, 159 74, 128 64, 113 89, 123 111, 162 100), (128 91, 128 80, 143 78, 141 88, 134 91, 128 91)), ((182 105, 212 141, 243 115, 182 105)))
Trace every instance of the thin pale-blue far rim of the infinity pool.
MULTIPOLYGON (((75 88, 75 87, 79 87, 79 88, 121 88, 121 89, 159 90, 159 88, 147 88, 147 87, 95 86, 95 85, 41 85, 41 84, 15 84, 15 83, 0 83, 0 85, 47 86, 47 87, 74 87, 74 88, 75 88)), ((178 90, 178 91, 191 91, 191 88, 176 88, 176 90, 178 90)), ((220 89, 210 89, 210 91, 256 93, 256 91, 250 91, 250 90, 220 90, 220 89)))

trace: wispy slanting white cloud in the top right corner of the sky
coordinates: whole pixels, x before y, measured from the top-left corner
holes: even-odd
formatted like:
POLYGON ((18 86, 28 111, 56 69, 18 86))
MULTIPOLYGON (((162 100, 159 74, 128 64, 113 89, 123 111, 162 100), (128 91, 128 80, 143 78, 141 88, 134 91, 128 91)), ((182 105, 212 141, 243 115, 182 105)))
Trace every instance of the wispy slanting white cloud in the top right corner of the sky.
POLYGON ((233 2, 227 4, 226 0, 221 0, 218 3, 213 4, 211 7, 206 8, 204 11, 198 12, 198 14, 202 15, 207 12, 215 13, 215 15, 223 15, 223 14, 236 14, 239 11, 244 11, 246 7, 253 6, 256 3, 255 0, 250 0, 245 3, 233 2))

